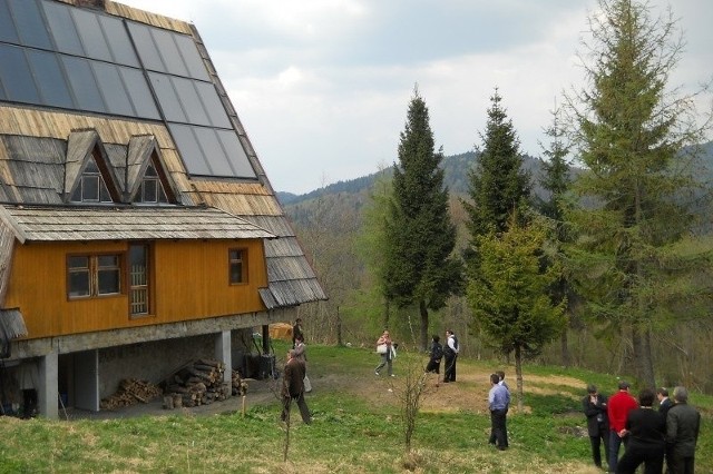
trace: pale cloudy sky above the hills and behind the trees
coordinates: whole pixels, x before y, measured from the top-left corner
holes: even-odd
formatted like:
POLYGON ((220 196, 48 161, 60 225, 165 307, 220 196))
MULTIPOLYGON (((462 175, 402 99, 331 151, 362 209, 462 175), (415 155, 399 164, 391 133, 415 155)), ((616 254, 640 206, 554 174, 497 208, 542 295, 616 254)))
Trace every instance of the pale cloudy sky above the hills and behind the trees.
MULTIPOLYGON (((397 159, 418 83, 437 146, 481 145, 495 87, 540 156, 596 0, 118 0, 195 23, 276 190, 309 192, 397 159)), ((713 78, 713 1, 670 6, 686 40, 672 85, 713 78)), ((701 108, 710 107, 702 98, 701 108)))

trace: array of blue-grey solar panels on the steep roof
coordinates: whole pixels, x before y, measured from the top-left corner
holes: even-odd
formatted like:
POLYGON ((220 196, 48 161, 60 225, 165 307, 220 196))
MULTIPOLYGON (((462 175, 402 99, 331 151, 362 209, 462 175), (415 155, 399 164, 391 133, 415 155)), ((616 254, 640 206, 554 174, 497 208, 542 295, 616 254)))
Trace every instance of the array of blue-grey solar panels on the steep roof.
POLYGON ((256 178, 188 34, 52 0, 0 0, 0 101, 160 120, 191 175, 256 178))

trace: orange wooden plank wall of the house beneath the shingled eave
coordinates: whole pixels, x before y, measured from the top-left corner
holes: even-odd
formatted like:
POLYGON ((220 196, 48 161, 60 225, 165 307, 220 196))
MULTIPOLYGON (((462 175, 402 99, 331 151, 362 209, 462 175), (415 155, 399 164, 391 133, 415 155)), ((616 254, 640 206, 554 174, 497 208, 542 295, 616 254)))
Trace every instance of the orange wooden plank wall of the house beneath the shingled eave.
MULTIPOLYGON (((19 307, 28 338, 136 327, 265 310, 264 247, 254 240, 178 240, 152 244, 152 312, 129 316, 127 280, 117 296, 67 298, 68 254, 126 253, 126 241, 16 245, 4 307, 19 307), (248 282, 228 284, 228 249, 246 248, 248 282)), ((126 276, 126 261, 123 263, 126 276)))

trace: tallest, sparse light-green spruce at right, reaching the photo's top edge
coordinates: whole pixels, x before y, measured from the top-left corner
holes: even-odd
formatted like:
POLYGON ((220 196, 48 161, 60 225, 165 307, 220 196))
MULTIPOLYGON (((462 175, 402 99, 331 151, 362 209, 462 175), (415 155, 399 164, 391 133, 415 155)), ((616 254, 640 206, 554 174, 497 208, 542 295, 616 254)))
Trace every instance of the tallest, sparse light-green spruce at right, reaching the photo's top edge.
POLYGON ((572 109, 586 170, 570 216, 579 231, 572 267, 590 314, 624 337, 635 375, 655 386, 652 336, 683 302, 710 308, 711 249, 687 245, 695 182, 683 151, 700 130, 690 97, 667 88, 682 48, 671 12, 655 19, 633 0, 599 7, 589 19, 588 82, 572 109))

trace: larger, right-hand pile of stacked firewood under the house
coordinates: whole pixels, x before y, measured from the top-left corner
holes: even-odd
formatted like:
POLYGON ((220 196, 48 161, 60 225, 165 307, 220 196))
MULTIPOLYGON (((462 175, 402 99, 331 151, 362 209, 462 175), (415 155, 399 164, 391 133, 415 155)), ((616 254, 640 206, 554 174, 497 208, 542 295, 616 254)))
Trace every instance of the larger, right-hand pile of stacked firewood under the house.
POLYGON ((198 359, 185 365, 164 382, 164 408, 208 405, 231 395, 244 394, 247 384, 233 371, 232 382, 223 382, 225 364, 198 359))

